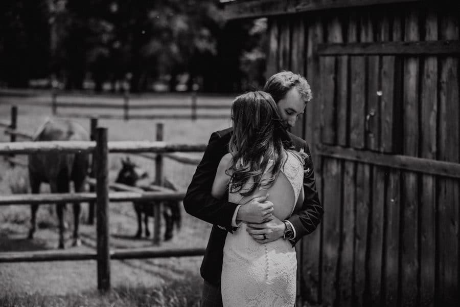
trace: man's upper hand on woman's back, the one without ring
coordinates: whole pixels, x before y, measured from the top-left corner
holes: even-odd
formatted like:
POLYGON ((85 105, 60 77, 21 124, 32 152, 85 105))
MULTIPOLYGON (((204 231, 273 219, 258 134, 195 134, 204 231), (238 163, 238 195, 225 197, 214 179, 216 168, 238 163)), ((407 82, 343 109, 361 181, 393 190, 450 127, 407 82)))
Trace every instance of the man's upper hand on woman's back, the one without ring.
POLYGON ((267 201, 267 195, 254 198, 238 209, 237 222, 264 223, 271 220, 273 203, 267 201))

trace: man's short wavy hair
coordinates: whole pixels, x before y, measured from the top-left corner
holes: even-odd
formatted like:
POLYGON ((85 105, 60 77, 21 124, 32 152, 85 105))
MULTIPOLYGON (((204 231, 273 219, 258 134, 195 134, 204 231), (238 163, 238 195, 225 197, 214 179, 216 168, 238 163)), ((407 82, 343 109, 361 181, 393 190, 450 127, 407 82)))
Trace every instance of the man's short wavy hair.
POLYGON ((264 92, 269 93, 273 100, 278 103, 293 87, 297 89, 305 103, 312 99, 310 84, 307 80, 301 75, 289 71, 282 71, 271 76, 265 83, 264 92))

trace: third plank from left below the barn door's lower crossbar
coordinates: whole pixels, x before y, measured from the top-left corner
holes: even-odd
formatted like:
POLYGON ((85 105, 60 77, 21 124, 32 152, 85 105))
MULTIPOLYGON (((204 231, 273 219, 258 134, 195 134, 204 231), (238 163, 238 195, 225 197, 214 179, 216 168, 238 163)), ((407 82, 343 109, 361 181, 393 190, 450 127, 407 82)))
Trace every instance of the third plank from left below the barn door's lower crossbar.
POLYGON ((366 288, 367 221, 369 220, 371 173, 369 165, 358 163, 356 167, 356 214, 355 214, 355 276, 353 306, 364 306, 366 288))

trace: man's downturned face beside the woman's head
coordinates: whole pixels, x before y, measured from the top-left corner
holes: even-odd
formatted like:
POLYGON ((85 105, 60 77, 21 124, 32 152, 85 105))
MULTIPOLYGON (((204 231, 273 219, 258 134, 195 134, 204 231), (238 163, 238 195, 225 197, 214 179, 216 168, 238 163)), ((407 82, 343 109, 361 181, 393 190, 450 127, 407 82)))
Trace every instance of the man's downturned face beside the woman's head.
POLYGON ((298 90, 293 87, 278 101, 278 111, 285 128, 293 127, 300 114, 305 111, 305 102, 298 90))

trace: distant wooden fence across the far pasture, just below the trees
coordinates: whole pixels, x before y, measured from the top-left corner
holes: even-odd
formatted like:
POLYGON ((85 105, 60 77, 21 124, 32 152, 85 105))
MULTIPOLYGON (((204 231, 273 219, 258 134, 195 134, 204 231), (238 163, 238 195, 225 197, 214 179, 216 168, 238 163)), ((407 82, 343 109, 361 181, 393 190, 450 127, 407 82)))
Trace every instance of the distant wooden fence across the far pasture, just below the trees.
POLYGON ((222 105, 222 104, 198 104, 197 103, 197 93, 194 91, 191 95, 191 103, 190 104, 168 104, 168 103, 155 103, 155 104, 134 104, 130 103, 129 95, 123 95, 123 103, 101 103, 101 102, 91 102, 91 103, 84 103, 84 102, 58 102, 57 93, 56 91, 52 92, 52 100, 51 100, 51 108, 53 111, 53 115, 61 115, 67 117, 90 117, 84 114, 77 114, 77 113, 65 113, 65 114, 58 114, 58 107, 59 108, 86 108, 86 109, 122 109, 123 114, 115 115, 115 114, 100 114, 98 118, 106 118, 106 119, 189 119, 196 120, 200 119, 219 119, 224 118, 228 119, 228 114, 198 114, 198 109, 230 109, 229 105, 222 105), (190 109, 190 115, 188 114, 130 114, 130 110, 152 110, 152 109, 170 109, 170 110, 177 110, 177 109, 190 109))

